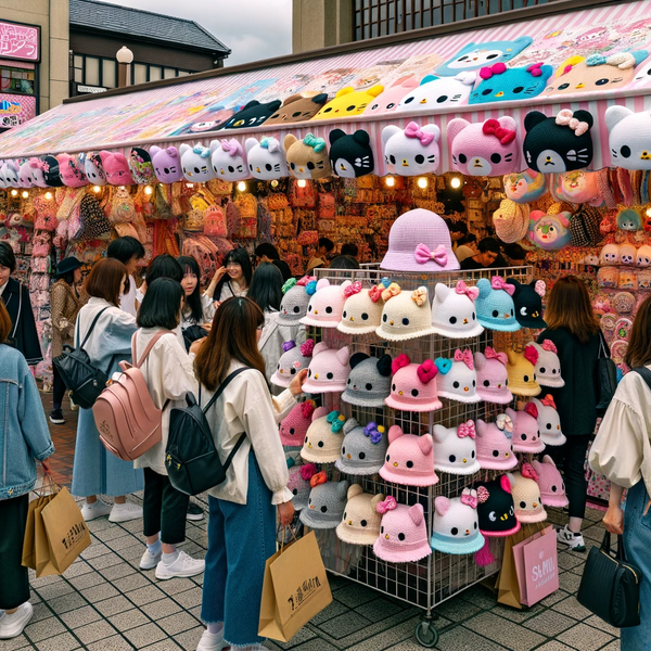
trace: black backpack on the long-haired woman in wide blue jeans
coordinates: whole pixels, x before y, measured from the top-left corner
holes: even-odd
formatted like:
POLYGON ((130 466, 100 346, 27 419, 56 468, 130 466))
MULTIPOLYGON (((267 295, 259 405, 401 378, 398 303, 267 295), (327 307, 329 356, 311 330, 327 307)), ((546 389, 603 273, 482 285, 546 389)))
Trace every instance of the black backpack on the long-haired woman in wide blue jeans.
POLYGON ((226 480, 226 471, 244 443, 246 433, 240 435, 227 460, 221 463, 206 413, 231 380, 246 370, 248 370, 246 367, 234 370, 203 409, 197 405, 195 397, 188 394, 186 396, 188 406, 170 411, 165 464, 169 483, 177 490, 186 495, 199 495, 226 480))

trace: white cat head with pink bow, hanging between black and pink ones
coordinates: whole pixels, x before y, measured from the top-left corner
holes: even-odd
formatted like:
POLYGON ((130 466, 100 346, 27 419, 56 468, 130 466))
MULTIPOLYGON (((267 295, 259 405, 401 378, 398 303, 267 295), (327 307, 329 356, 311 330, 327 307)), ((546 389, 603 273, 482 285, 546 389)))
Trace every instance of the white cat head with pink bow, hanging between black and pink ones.
POLYGON ((394 125, 382 129, 384 161, 399 176, 434 174, 441 163, 436 125, 419 127, 411 122, 405 130, 394 125))

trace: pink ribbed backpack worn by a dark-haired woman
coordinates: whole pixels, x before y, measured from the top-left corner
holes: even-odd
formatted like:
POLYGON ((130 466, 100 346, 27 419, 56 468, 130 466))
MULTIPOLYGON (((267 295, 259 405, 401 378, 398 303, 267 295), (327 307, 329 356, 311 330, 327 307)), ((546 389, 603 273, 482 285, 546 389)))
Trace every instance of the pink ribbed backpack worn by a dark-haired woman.
MULTIPOLYGON (((119 380, 108 384, 92 406, 100 441, 112 455, 123 461, 138 459, 162 439, 163 410, 154 405, 140 367, 164 334, 170 334, 170 331, 157 332, 140 359, 136 352, 137 335, 133 334, 133 365, 120 361, 123 373, 119 380)), ((166 406, 167 403, 163 409, 166 406)))

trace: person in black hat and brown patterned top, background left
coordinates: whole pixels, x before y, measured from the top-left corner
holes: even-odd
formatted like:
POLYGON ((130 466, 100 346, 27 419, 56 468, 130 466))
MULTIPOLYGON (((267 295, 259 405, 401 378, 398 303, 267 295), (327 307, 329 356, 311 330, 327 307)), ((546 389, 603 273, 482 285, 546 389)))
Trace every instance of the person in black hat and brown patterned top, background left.
MULTIPOLYGON (((87 299, 87 296, 82 296, 78 289, 82 266, 84 264, 76 257, 64 258, 56 265, 56 278, 59 280, 50 290, 52 359, 63 353, 64 345, 72 346, 74 344, 77 315, 87 299)), ((62 405, 66 386, 56 369, 56 365, 52 365, 52 372, 54 386, 50 421, 55 425, 61 425, 65 423, 62 405)))

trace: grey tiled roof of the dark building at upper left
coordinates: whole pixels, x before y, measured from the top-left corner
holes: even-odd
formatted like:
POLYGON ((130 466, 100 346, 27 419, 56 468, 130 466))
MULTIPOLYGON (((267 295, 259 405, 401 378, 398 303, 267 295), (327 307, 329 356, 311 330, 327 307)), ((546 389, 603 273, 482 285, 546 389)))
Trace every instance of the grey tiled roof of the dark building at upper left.
POLYGON ((99 0, 69 0, 71 26, 137 36, 169 44, 230 54, 219 39, 194 21, 99 0))

